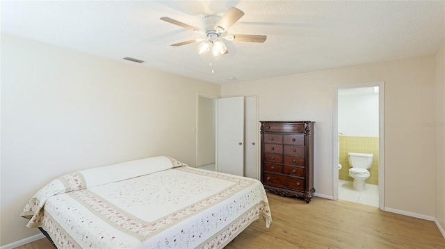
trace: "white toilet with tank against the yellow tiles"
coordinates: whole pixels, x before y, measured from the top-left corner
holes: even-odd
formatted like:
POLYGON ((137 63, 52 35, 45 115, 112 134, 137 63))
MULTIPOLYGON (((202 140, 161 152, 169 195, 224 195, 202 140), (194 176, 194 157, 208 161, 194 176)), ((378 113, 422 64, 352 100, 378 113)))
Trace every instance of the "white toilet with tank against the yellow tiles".
POLYGON ((348 161, 351 166, 349 176, 354 178, 353 187, 357 191, 364 191, 365 180, 371 175, 368 171, 373 164, 373 154, 348 152, 348 161))

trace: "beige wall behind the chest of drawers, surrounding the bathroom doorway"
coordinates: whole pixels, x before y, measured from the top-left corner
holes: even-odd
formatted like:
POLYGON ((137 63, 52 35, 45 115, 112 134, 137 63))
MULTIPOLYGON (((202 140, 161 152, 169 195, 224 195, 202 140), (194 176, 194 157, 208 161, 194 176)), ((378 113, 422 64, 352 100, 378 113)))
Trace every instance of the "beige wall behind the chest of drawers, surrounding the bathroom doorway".
POLYGON ((385 207, 433 217, 435 130, 423 123, 435 117, 434 56, 232 83, 221 86, 221 95, 257 95, 259 120, 316 121, 314 187, 333 196, 333 89, 380 81, 385 82, 385 207))

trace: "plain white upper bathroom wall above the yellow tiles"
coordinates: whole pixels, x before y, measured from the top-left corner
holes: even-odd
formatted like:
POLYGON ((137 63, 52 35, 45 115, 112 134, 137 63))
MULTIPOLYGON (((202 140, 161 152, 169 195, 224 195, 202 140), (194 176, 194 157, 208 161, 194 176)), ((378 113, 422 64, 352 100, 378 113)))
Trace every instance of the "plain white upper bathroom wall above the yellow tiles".
MULTIPOLYGON (((373 87, 371 87, 373 88, 373 87)), ((344 136, 378 137, 378 93, 340 94, 338 128, 344 136)))

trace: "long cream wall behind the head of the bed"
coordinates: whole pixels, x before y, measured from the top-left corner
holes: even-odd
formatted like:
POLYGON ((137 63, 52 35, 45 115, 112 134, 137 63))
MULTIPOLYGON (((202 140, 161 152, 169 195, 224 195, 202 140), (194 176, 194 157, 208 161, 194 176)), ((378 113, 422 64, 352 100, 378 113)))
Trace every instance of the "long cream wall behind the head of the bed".
POLYGON ((1 34, 1 239, 60 175, 155 155, 196 165, 197 92, 220 86, 1 34))

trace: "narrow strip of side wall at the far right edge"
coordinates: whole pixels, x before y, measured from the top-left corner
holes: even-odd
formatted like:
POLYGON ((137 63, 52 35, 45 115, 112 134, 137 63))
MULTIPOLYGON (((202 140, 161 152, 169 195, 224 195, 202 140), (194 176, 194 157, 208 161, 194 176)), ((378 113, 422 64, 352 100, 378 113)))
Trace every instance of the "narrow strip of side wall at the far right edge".
POLYGON ((445 45, 436 54, 436 222, 445 237, 445 45))

